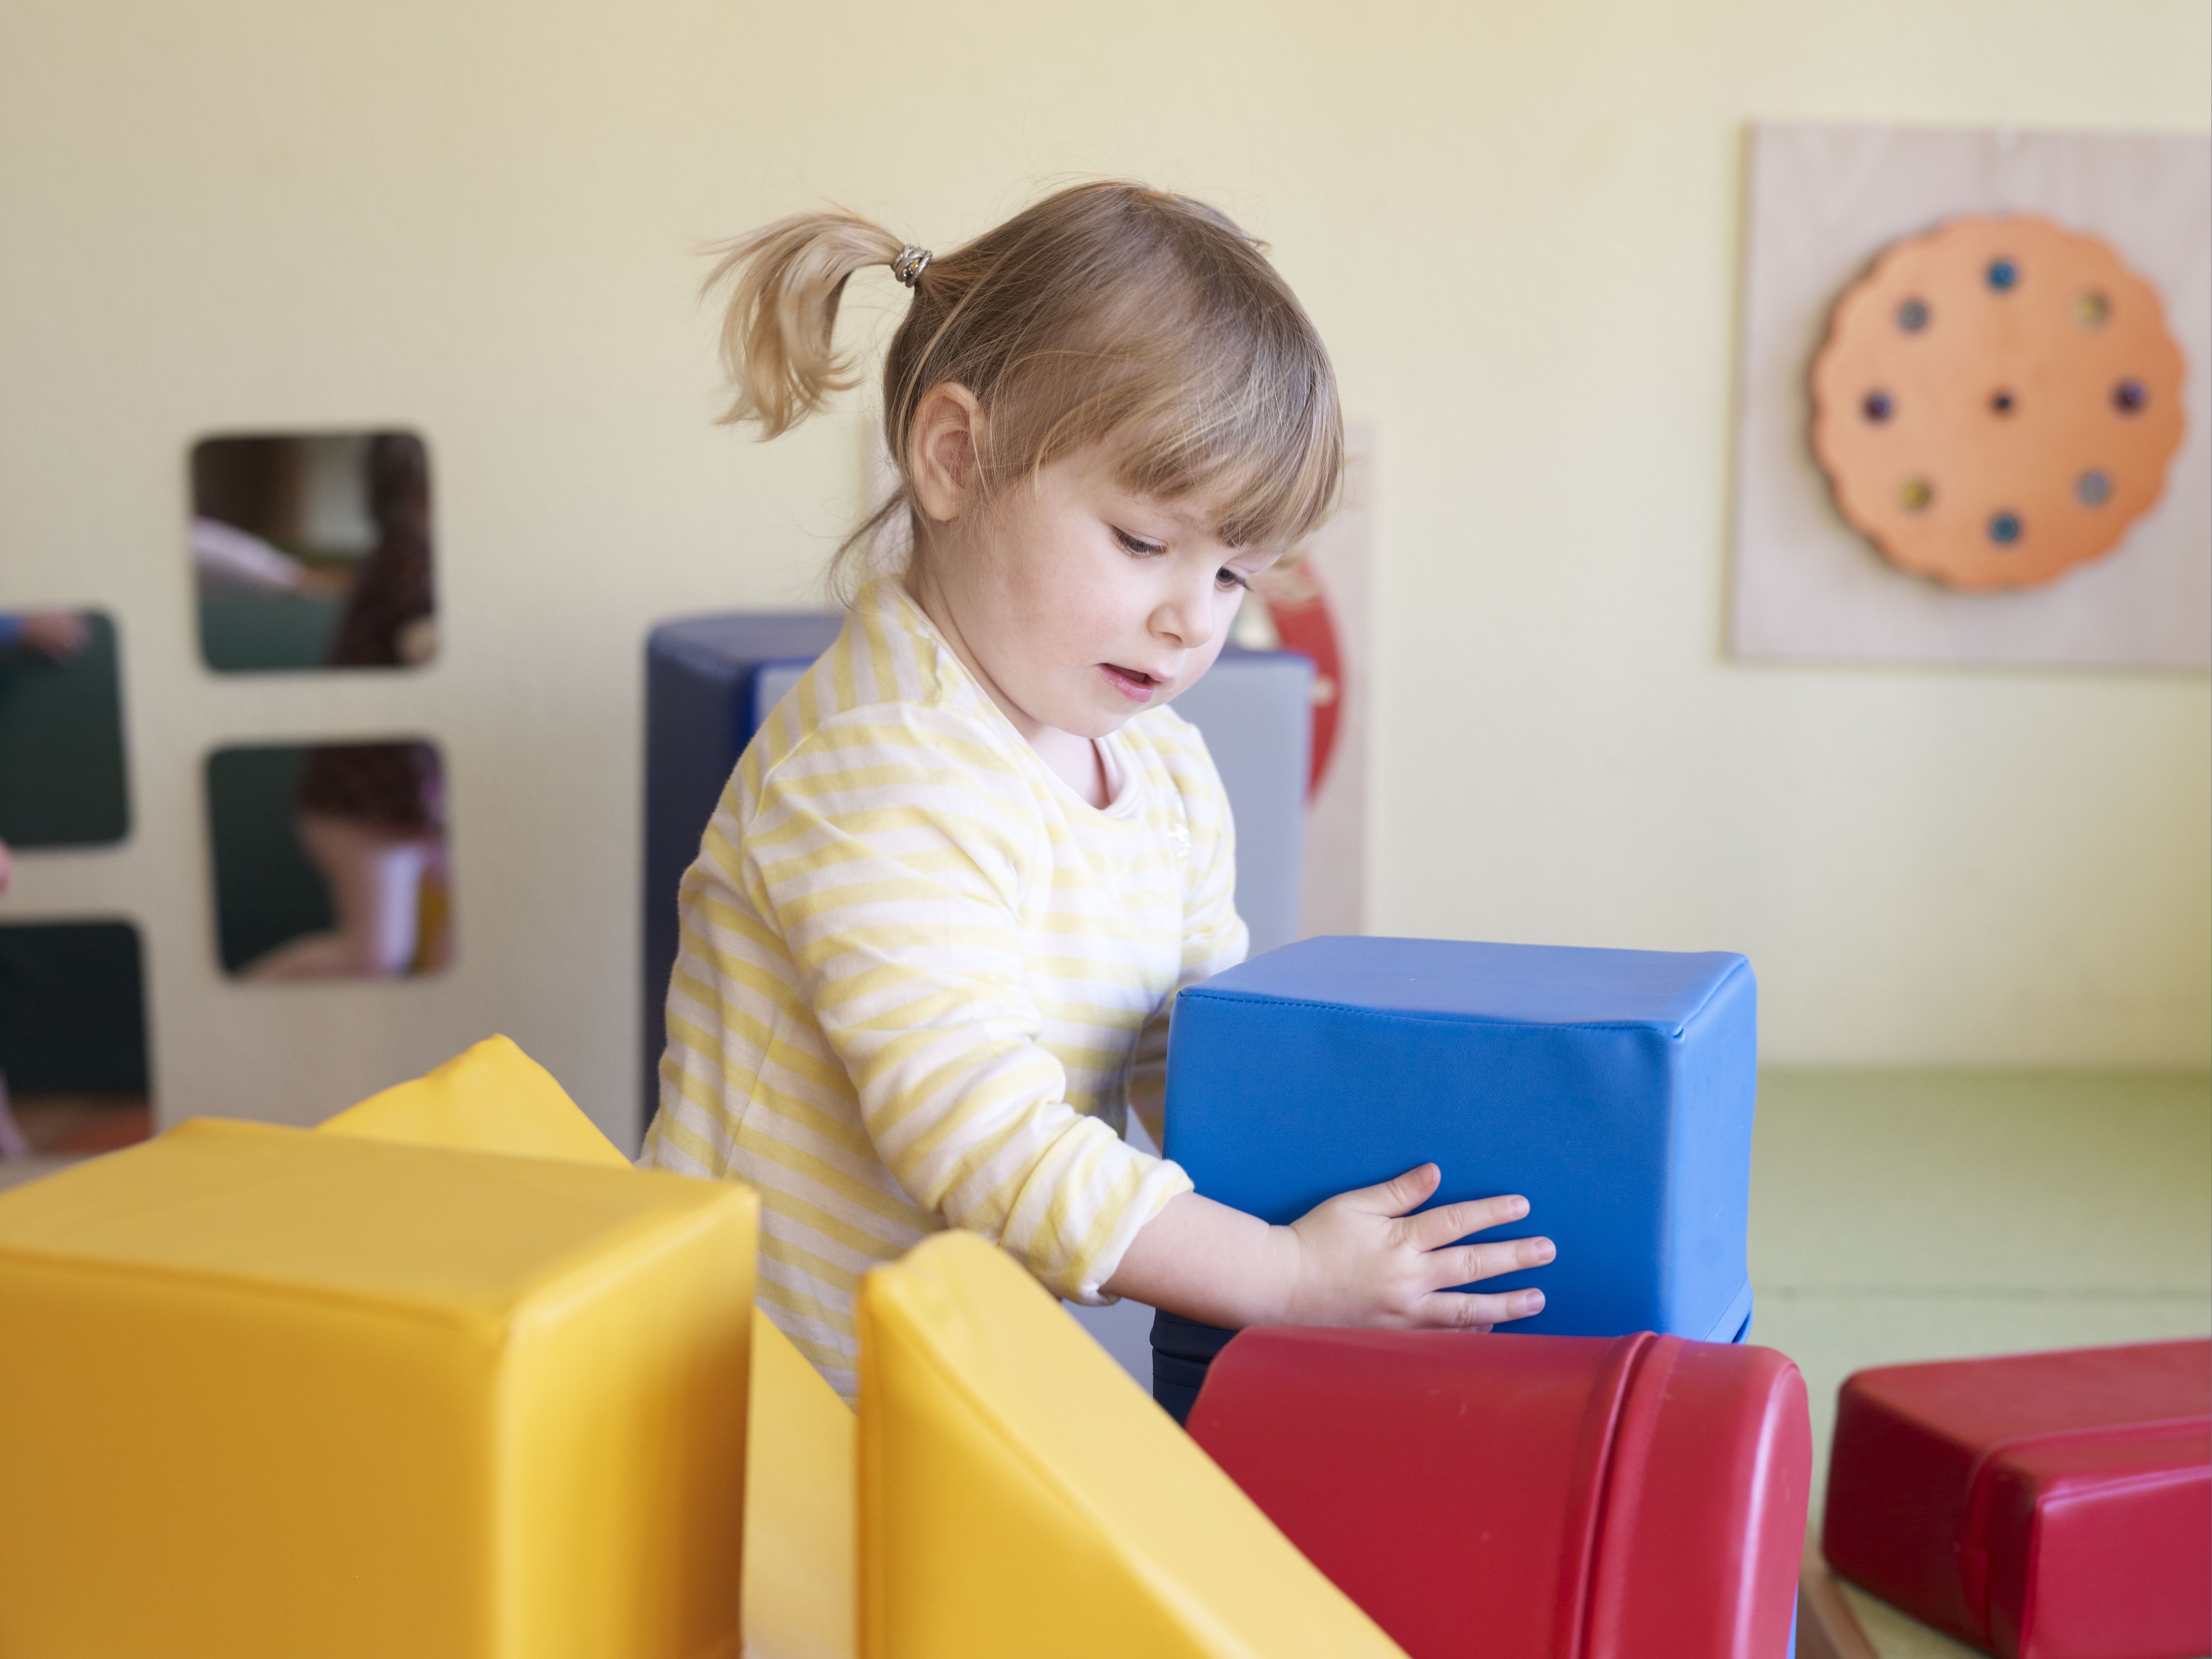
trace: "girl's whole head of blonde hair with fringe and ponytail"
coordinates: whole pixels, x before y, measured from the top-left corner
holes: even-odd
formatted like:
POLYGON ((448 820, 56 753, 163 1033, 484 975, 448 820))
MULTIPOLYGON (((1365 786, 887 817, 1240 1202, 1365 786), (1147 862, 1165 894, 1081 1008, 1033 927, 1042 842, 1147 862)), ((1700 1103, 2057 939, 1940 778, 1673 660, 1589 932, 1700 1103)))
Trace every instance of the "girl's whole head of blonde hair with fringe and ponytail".
MULTIPOLYGON (((849 212, 792 215, 712 248, 703 292, 730 290, 721 418, 774 438, 858 385, 832 338, 838 301, 854 272, 905 248, 849 212)), ((1130 489, 1219 493, 1214 529, 1232 546, 1290 546, 1336 504, 1343 418, 1321 334, 1261 243, 1190 197, 1077 184, 927 261, 883 365, 898 491, 838 549, 841 597, 900 511, 927 546, 907 440, 922 396, 947 383, 989 416, 987 495, 1110 442, 1130 489)))

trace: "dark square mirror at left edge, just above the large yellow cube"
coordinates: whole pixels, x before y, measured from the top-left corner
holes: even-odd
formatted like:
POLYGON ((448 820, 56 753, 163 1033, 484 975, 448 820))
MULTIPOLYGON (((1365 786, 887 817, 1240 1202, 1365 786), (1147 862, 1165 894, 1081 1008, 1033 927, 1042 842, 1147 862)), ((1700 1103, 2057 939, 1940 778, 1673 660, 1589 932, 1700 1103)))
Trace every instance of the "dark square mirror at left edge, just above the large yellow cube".
POLYGON ((0 925, 0 1186, 150 1133, 137 929, 0 925))

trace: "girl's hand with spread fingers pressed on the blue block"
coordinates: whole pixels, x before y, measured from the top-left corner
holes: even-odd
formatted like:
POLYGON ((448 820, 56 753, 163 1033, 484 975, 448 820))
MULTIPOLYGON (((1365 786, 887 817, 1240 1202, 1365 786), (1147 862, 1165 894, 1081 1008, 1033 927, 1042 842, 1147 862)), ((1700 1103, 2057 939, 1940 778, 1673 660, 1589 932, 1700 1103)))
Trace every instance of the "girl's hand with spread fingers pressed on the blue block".
POLYGON ((1528 1214, 1528 1199, 1517 1194, 1407 1214, 1427 1201, 1442 1179, 1444 1172, 1436 1164, 1422 1164, 1396 1181, 1325 1199, 1287 1228, 1276 1228, 1283 1250, 1292 1256, 1290 1296, 1281 1323, 1486 1332, 1491 1325, 1540 1312, 1542 1290, 1515 1290, 1504 1296, 1449 1290, 1517 1267, 1540 1267, 1557 1252, 1551 1239, 1453 1243, 1528 1214))

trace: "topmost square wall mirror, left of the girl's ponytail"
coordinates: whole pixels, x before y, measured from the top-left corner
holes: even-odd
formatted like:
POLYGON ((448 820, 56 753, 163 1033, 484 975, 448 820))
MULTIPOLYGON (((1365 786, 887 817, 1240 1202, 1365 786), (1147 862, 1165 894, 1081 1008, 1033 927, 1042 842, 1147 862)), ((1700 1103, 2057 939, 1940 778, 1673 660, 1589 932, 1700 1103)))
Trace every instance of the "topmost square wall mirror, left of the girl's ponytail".
POLYGON ((411 668, 436 653, 429 451, 411 431, 204 438, 190 544, 208 668, 411 668))

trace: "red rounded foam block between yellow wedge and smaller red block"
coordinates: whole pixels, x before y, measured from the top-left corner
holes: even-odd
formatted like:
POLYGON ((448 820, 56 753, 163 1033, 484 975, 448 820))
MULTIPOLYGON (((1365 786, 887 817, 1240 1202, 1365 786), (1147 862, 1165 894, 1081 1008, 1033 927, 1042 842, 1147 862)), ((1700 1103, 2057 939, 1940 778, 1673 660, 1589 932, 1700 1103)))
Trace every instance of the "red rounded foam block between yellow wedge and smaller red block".
POLYGON ((1796 1367, 1679 1336, 1250 1329, 1190 1433, 1413 1659, 1781 1659, 1796 1367))

